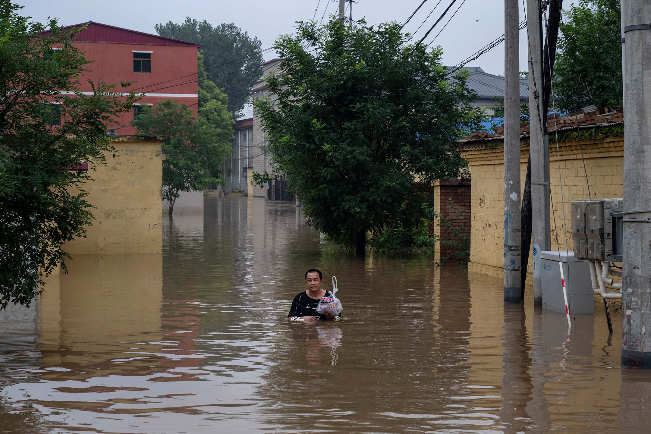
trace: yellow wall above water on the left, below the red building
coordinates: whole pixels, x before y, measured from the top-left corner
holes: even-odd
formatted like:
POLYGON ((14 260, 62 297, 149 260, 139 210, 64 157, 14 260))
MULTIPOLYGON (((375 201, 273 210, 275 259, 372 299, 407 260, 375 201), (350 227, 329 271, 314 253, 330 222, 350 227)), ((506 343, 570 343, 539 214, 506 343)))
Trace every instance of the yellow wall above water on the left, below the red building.
POLYGON ((162 138, 118 136, 117 156, 90 172, 83 185, 94 206, 85 238, 66 243, 70 254, 159 253, 162 236, 162 138), (159 139, 159 140, 158 140, 159 139))

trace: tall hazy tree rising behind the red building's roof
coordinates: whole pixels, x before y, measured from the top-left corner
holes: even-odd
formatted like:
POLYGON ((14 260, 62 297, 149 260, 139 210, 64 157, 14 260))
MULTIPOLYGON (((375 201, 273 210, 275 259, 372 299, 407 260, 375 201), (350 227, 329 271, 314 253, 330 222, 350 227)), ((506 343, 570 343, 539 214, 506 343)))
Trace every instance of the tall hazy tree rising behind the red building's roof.
POLYGON ((251 38, 234 23, 213 27, 206 20, 199 22, 189 17, 181 24, 157 24, 156 31, 168 38, 202 44, 200 51, 208 77, 217 87, 229 90, 229 111, 236 118, 242 115, 248 90, 262 74, 260 64, 264 58, 258 38, 251 38))

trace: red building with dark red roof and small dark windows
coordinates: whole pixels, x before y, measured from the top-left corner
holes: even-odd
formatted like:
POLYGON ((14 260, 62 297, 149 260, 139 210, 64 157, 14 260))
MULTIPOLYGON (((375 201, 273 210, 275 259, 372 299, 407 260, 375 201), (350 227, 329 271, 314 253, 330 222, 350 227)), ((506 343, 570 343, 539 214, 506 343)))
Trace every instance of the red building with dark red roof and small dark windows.
MULTIPOLYGON (((130 124, 143 104, 156 105, 172 98, 189 106, 197 115, 197 49, 201 44, 93 21, 70 25, 66 29, 84 24, 88 27, 76 34, 79 42, 75 46, 85 51, 86 59, 93 62, 87 66, 90 72, 80 80, 80 90, 92 94, 87 81, 90 79, 97 83, 103 79, 106 83, 117 84, 135 81, 132 88, 115 90, 125 92, 124 95, 130 90, 145 94, 133 107, 132 113, 124 114, 119 126, 115 125, 118 134, 136 133, 130 124)), ((64 89, 62 93, 65 93, 64 89)))

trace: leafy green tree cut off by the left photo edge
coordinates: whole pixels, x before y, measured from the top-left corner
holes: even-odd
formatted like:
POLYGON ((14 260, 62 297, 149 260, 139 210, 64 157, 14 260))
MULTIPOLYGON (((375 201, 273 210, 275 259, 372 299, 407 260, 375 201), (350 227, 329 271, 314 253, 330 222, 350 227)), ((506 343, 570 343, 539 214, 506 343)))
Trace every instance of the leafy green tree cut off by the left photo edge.
POLYGON ((42 277, 59 263, 66 269, 63 244, 85 236, 93 220, 83 191, 89 173, 66 168, 115 156, 106 126, 137 99, 103 82, 81 93, 90 63, 73 45, 81 28, 35 23, 20 8, 0 0, 0 310, 29 306, 42 277))

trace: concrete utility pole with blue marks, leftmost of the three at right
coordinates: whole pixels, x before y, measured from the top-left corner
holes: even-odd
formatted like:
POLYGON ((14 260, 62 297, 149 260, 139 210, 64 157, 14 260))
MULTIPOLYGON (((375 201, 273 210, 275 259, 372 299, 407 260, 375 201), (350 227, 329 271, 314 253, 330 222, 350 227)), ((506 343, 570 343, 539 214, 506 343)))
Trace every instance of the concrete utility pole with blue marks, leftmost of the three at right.
POLYGON ((504 2, 504 301, 519 303, 520 120, 518 0, 504 2))

